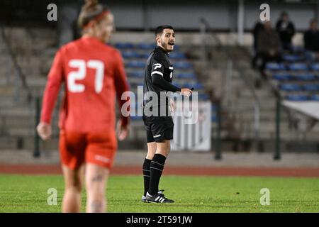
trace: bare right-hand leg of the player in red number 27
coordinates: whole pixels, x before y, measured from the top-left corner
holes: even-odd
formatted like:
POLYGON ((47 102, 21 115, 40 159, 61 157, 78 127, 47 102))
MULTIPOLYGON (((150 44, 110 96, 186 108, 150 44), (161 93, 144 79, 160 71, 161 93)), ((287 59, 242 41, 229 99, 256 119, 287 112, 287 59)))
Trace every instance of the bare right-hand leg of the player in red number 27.
POLYGON ((87 163, 85 171, 86 212, 102 213, 106 211, 106 183, 109 170, 106 167, 87 163))

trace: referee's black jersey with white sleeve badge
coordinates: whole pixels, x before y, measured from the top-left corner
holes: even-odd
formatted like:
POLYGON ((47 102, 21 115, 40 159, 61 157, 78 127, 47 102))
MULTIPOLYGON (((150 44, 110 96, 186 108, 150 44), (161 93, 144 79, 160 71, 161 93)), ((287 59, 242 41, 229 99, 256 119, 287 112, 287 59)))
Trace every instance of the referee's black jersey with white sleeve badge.
MULTIPOLYGON (((146 106, 151 100, 145 97, 147 92, 157 93, 158 103, 152 104, 152 106, 157 106, 160 104, 160 92, 167 92, 167 90, 162 89, 152 83, 152 76, 154 74, 162 76, 167 82, 172 84, 173 80, 173 65, 169 61, 169 54, 161 47, 157 46, 150 54, 147 59, 147 65, 144 72, 144 84, 143 84, 143 106, 146 106)), ((162 103, 164 103, 162 101, 162 103)), ((169 99, 167 98, 165 104, 169 105, 169 99)))

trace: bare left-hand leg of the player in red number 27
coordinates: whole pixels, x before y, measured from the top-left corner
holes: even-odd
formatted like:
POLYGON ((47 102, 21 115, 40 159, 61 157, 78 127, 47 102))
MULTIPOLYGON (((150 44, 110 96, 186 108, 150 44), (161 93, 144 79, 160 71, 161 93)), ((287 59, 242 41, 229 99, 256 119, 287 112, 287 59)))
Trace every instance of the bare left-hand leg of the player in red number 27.
POLYGON ((75 170, 62 165, 62 172, 65 178, 65 194, 62 199, 63 213, 79 213, 81 211, 81 191, 83 165, 75 170))

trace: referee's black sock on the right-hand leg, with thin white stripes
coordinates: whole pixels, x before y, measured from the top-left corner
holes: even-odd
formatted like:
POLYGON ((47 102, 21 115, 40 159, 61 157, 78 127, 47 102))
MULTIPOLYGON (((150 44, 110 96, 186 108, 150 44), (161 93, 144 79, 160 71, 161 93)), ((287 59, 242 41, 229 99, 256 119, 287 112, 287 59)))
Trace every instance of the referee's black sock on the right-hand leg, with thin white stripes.
POLYGON ((150 165, 150 187, 148 193, 153 195, 158 192, 159 179, 161 178, 166 157, 161 154, 155 154, 150 165))

